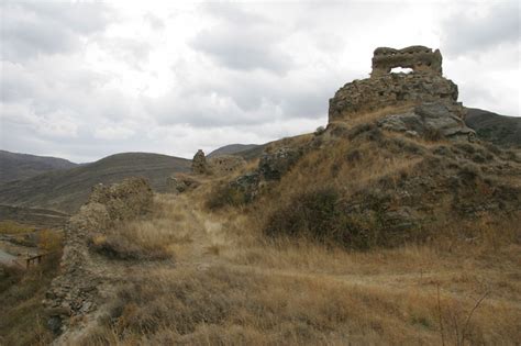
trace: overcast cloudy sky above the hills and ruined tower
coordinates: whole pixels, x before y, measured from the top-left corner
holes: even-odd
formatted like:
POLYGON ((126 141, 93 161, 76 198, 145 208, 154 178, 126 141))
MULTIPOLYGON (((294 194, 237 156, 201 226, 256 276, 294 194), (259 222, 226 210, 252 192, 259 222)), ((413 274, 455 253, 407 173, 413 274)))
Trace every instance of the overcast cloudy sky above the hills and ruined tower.
POLYGON ((328 122, 373 51, 440 48, 459 101, 520 112, 519 1, 0 0, 0 148, 191 158, 328 122))

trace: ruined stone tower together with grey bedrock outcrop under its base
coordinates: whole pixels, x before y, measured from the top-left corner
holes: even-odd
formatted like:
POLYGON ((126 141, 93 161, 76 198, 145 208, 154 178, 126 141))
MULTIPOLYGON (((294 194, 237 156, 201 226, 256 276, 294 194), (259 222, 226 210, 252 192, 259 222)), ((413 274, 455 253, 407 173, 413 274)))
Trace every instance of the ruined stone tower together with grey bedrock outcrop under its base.
POLYGON ((379 123, 386 130, 412 135, 434 131, 443 136, 474 138, 474 131, 465 125, 466 110, 457 97, 457 86, 442 76, 439 49, 380 47, 374 52, 370 78, 346 83, 330 99, 329 123, 348 122, 373 112, 393 113, 390 121, 384 119, 379 123), (395 67, 412 71, 395 74, 395 67), (401 113, 408 113, 407 119, 401 113))

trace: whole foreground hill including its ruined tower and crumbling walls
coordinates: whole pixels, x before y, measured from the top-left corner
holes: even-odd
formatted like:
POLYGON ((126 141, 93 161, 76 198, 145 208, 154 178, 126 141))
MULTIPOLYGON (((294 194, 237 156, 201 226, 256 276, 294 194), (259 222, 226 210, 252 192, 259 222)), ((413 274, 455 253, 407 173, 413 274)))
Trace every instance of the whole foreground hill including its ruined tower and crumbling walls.
POLYGON ((516 344, 520 152, 465 124, 441 62, 377 48, 323 130, 176 193, 97 187, 45 295, 56 343, 516 344))

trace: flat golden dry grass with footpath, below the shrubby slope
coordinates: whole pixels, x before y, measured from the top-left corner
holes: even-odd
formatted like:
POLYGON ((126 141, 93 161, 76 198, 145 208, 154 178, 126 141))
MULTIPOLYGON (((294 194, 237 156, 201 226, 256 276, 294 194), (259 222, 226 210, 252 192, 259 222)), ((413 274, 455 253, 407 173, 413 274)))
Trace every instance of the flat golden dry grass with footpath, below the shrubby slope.
POLYGON ((472 242, 447 228, 424 245, 346 252, 267 241, 246 210, 207 214, 203 197, 159 198, 159 214, 197 225, 192 241, 178 244, 181 265, 129 278, 82 344, 442 344, 443 334, 446 345, 492 345, 521 337, 514 223, 462 225, 472 242))

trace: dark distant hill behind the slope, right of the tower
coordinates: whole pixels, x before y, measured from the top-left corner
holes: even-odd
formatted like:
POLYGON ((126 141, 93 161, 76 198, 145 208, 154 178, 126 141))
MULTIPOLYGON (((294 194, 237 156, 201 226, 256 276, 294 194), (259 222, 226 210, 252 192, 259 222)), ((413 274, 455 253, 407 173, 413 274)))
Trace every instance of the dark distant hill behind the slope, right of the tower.
POLYGON ((479 138, 497 145, 521 147, 521 118, 468 108, 465 122, 479 138))

